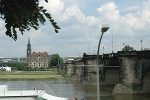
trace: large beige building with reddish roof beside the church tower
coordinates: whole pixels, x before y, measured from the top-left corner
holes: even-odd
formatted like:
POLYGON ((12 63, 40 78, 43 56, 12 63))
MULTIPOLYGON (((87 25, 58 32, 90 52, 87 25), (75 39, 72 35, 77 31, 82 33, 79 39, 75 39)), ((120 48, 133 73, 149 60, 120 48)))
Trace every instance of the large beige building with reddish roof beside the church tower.
POLYGON ((28 56, 28 66, 32 68, 47 68, 51 56, 47 52, 33 52, 28 56))

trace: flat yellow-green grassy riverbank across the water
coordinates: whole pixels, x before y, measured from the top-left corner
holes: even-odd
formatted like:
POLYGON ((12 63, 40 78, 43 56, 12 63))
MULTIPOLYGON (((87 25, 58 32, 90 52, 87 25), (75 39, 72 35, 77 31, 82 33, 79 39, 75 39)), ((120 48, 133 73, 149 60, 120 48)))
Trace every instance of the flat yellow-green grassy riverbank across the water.
POLYGON ((62 75, 53 71, 0 71, 0 80, 45 80, 62 78, 64 78, 62 75))

